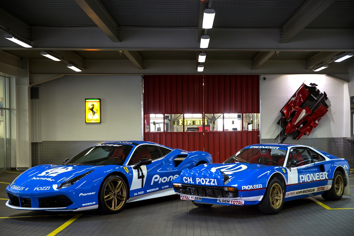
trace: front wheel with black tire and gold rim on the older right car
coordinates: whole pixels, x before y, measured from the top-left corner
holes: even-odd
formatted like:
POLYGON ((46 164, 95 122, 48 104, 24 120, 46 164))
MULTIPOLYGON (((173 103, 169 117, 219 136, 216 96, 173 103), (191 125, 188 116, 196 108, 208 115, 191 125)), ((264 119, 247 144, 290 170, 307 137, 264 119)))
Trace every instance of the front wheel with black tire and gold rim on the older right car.
POLYGON ((264 214, 278 214, 284 205, 284 187, 279 179, 270 180, 258 209, 264 214), (276 197, 277 196, 277 197, 276 197))

